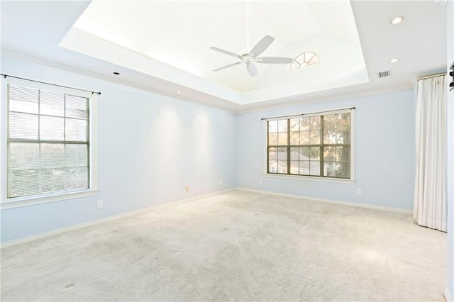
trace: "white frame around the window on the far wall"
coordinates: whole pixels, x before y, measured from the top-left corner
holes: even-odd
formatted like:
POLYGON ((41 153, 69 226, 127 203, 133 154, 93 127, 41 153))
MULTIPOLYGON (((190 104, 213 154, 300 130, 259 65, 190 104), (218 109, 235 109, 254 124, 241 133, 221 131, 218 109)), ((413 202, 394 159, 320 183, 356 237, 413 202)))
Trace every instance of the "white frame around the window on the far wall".
POLYGON ((317 111, 304 113, 304 115, 297 114, 294 116, 281 116, 276 118, 264 118, 263 119, 263 177, 277 178, 277 179, 297 179, 297 180, 309 180, 309 181, 326 181, 326 182, 337 182, 341 184, 354 184, 355 183, 355 108, 342 108, 342 109, 332 109, 326 111, 317 111), (288 118, 300 118, 301 116, 323 116, 327 114, 336 114, 336 113, 350 113, 350 179, 341 179, 336 177, 317 177, 317 176, 306 176, 306 175, 290 175, 290 174, 276 174, 268 173, 267 170, 267 147, 268 147, 268 121, 283 120, 288 118))

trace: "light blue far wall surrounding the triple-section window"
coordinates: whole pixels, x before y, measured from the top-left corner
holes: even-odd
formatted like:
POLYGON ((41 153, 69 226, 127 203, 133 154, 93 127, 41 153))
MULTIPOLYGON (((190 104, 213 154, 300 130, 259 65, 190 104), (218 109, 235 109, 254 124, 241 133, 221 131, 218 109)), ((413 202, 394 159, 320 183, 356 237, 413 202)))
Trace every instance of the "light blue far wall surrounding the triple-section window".
POLYGON ((414 116, 413 89, 240 114, 236 128, 237 186, 412 209, 416 157, 414 116), (355 184, 263 176, 261 118, 350 107, 356 107, 355 184), (356 195, 356 189, 362 189, 361 196, 356 195))

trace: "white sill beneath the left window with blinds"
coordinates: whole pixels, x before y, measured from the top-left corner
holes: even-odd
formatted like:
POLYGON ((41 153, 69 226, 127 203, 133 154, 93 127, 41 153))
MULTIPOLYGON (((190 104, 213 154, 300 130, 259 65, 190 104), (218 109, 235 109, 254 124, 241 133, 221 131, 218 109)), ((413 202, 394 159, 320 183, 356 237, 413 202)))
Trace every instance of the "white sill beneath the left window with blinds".
POLYGON ((33 197, 16 197, 9 198, 7 201, 3 201, 0 204, 1 210, 9 208, 19 208, 21 206, 33 206, 40 203, 50 203, 55 201, 64 201, 67 199, 82 198, 87 196, 94 196, 98 194, 98 189, 88 189, 84 191, 74 191, 56 194, 43 194, 40 196, 33 197))

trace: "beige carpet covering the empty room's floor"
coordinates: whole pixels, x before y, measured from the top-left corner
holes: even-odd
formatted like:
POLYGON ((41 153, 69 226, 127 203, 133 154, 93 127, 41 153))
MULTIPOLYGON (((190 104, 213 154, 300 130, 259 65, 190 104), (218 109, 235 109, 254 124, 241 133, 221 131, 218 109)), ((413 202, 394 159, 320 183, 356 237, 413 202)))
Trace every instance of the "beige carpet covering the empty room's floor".
POLYGON ((230 191, 1 251, 1 301, 443 301, 446 234, 230 191))

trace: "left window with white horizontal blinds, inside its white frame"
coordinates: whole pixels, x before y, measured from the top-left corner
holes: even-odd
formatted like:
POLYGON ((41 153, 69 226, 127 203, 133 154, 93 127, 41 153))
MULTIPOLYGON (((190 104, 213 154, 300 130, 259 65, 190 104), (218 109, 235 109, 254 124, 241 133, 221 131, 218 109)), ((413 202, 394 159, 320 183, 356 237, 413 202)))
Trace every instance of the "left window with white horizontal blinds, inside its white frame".
POLYGON ((6 84, 6 201, 95 189, 94 96, 16 82, 6 84))

